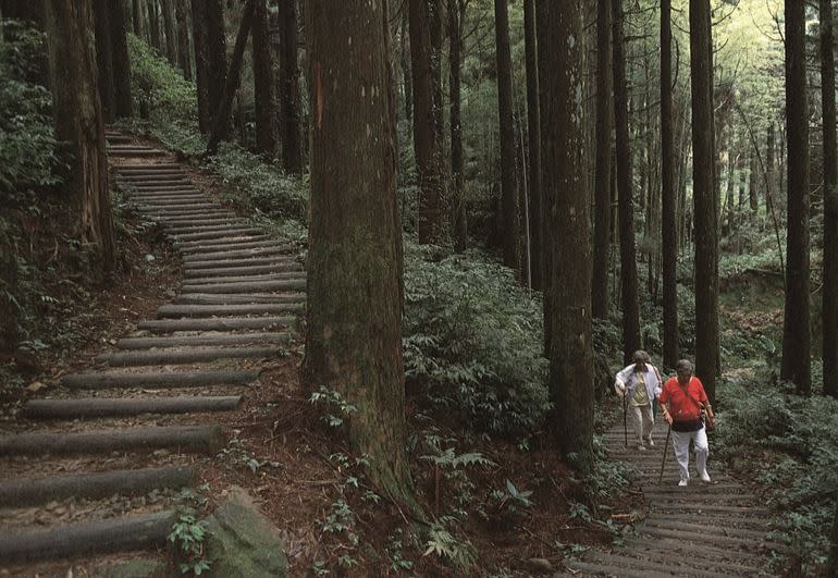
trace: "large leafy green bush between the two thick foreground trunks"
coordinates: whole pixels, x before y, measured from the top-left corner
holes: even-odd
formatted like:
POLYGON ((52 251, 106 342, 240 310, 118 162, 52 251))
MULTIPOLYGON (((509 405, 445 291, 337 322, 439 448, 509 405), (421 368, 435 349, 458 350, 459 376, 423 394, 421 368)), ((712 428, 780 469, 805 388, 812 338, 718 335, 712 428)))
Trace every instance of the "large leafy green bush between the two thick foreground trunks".
POLYGON ((550 408, 538 297, 477 254, 441 261, 433 254, 405 250, 407 377, 476 429, 537 430, 550 408))

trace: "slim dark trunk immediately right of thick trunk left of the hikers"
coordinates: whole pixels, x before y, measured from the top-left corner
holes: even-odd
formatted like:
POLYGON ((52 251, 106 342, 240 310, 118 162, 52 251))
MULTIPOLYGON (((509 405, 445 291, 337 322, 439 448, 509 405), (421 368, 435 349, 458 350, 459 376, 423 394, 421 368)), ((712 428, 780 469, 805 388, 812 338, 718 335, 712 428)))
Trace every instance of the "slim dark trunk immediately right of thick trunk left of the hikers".
POLYGON ((596 172, 594 174, 592 315, 608 317, 612 197, 611 0, 596 2, 596 172))

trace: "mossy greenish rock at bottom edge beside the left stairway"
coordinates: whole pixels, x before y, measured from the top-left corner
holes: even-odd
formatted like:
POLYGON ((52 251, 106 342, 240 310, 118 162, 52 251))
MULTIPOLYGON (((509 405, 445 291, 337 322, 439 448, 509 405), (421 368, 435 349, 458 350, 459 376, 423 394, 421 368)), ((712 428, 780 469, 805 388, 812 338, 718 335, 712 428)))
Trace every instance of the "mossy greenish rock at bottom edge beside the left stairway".
POLYGON ((258 578, 287 576, 279 531, 254 505, 246 490, 233 487, 226 501, 207 518, 208 576, 258 578))

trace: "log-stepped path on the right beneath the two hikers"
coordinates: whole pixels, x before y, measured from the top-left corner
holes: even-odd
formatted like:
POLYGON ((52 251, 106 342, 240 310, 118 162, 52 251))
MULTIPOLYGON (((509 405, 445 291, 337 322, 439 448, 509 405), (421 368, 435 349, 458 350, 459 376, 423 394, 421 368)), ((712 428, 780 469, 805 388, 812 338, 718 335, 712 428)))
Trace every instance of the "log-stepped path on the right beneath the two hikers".
MULTIPOLYGON (((630 426, 629 426, 630 428, 630 426)), ((699 481, 694 455, 690 455, 690 483, 678 487, 678 465, 671 445, 666 451, 663 481, 661 462, 666 442, 666 423, 661 416, 652 433, 655 446, 645 452, 625 446, 623 423, 605 433, 608 456, 632 466, 633 479, 643 492, 645 512, 637 536, 609 551, 589 551, 566 566, 584 576, 765 576, 771 575, 772 553, 786 552, 766 533, 773 529, 765 501, 752 488, 731 478, 713 459, 707 470, 711 483, 699 481)))

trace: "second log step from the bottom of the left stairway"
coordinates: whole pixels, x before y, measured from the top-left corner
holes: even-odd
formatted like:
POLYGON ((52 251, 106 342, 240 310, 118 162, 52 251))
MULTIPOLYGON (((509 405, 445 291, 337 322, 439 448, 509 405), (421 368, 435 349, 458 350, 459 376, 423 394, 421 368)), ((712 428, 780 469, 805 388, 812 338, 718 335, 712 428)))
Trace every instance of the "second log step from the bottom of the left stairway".
POLYGON ((122 469, 0 482, 0 507, 28 507, 53 500, 101 500, 113 494, 143 495, 162 488, 183 488, 195 481, 192 466, 122 469))

